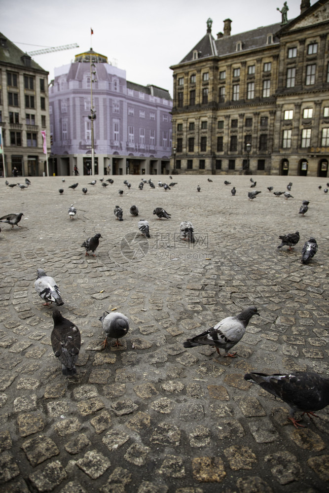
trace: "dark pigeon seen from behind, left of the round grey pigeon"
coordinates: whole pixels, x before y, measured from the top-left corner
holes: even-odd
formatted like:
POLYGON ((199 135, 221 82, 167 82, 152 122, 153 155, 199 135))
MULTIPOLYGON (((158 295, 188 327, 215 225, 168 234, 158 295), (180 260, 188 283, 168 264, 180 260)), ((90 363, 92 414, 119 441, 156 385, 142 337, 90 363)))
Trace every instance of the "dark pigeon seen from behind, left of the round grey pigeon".
POLYGON ((53 352, 62 363, 63 375, 75 375, 75 363, 81 347, 80 331, 57 308, 53 311, 53 320, 54 328, 50 336, 53 352))

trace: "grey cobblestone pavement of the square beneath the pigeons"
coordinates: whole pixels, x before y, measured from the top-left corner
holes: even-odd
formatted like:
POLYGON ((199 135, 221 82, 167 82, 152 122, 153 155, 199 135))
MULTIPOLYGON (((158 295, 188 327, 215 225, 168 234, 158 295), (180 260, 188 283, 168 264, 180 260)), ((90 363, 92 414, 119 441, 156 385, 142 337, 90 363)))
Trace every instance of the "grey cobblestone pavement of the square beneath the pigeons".
POLYGON ((0 179, 0 215, 24 213, 23 228, 1 223, 0 233, 1 492, 328 491, 329 409, 304 416, 297 430, 286 404, 243 379, 253 370, 329 375, 328 178, 254 176, 262 193, 250 201, 249 176, 207 177, 174 176, 167 192, 139 190, 140 176, 128 177, 131 189, 127 176, 107 188, 87 176, 32 177, 24 190, 0 179), (290 180, 293 199, 266 189, 285 191, 290 180), (310 201, 304 217, 302 199, 310 201), (139 217, 129 214, 133 204, 139 217), (155 207, 172 218, 158 220, 155 207), (138 236, 139 218, 149 221, 149 240, 138 236), (179 240, 182 220, 193 223, 194 245, 179 240), (278 250, 278 236, 296 230, 294 250, 278 250), (97 255, 86 257, 80 245, 98 232, 97 255), (319 250, 302 265, 311 236, 319 250), (34 290, 37 268, 55 278, 61 313, 80 329, 74 377, 53 354, 53 308, 34 290), (238 357, 183 348, 251 304, 261 316, 238 357), (130 330, 122 347, 102 350, 99 317, 112 309, 130 330))

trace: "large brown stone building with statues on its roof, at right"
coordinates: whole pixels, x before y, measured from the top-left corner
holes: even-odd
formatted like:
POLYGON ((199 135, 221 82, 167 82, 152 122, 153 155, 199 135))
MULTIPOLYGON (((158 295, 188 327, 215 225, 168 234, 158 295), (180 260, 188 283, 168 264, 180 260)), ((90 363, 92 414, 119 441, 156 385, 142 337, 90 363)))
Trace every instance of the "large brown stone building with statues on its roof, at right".
MULTIPOLYGON (((274 16, 280 13, 273 12, 274 16)), ((173 65, 177 173, 327 176, 329 0, 231 35, 231 20, 173 65)))

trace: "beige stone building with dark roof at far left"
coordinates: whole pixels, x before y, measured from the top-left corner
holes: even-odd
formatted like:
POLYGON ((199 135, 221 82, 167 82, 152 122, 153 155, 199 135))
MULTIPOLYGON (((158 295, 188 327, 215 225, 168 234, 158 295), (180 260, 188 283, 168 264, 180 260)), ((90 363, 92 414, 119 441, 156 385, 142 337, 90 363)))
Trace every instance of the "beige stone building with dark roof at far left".
POLYGON ((6 175, 13 168, 22 176, 46 174, 41 131, 50 148, 48 72, 1 33, 0 126, 6 175))

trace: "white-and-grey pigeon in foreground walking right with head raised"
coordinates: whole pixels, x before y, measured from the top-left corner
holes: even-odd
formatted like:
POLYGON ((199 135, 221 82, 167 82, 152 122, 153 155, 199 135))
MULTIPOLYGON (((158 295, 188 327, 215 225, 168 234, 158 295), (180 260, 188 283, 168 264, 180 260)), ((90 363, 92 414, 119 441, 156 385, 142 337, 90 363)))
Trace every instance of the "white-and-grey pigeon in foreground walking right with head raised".
POLYGON ((259 315, 256 306, 250 306, 234 317, 223 318, 210 329, 205 330, 191 339, 187 339, 184 348, 193 348, 194 346, 210 345, 216 348, 220 356, 219 349, 225 350, 224 356, 236 357, 236 352, 228 352, 242 339, 249 320, 254 315, 259 315))

